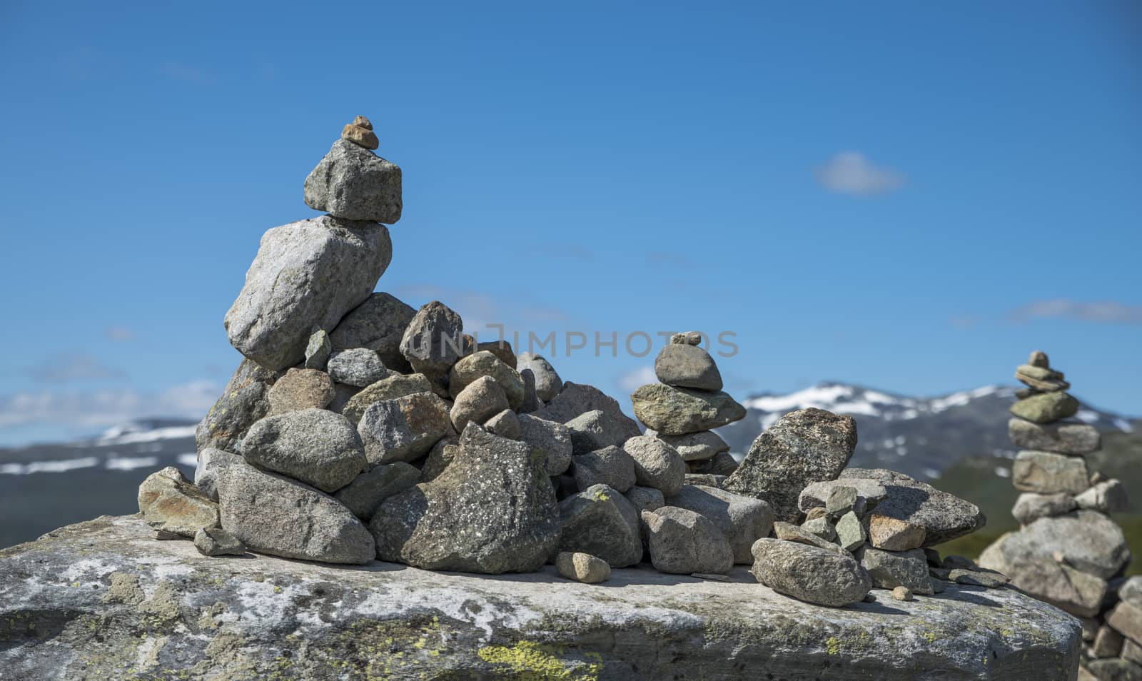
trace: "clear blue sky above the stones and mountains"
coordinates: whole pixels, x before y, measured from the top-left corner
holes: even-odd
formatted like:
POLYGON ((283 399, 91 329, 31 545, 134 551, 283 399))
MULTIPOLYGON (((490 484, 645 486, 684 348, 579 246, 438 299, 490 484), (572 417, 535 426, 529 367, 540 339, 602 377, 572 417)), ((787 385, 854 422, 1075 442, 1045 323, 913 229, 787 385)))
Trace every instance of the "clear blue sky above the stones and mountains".
MULTIPOLYGON (((1142 415, 1137 5, 923 5, 6 2, 0 443, 203 412, 258 238, 316 215, 355 114, 404 170, 378 290, 413 305, 732 331, 739 398, 1042 347, 1142 415)), ((619 355, 549 359, 629 407, 653 354, 619 355)))

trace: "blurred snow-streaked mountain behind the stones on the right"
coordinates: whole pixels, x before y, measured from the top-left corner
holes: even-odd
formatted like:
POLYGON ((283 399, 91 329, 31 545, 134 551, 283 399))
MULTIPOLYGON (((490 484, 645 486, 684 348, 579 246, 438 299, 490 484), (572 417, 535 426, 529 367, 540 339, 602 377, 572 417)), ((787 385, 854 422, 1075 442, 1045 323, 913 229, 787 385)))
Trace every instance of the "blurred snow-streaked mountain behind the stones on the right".
MULTIPOLYGON (((809 407, 856 419, 859 442, 852 466, 890 467, 935 478, 967 456, 1014 456, 1007 440, 1007 408, 1015 387, 987 385, 938 398, 911 398, 843 383, 821 383, 788 394, 758 394, 741 401, 746 418, 718 430, 733 451, 745 452, 782 415, 809 407)), ((1081 398, 1079 398, 1081 400, 1081 398)), ((1086 404, 1073 420, 1100 431, 1131 432, 1131 419, 1086 404)))

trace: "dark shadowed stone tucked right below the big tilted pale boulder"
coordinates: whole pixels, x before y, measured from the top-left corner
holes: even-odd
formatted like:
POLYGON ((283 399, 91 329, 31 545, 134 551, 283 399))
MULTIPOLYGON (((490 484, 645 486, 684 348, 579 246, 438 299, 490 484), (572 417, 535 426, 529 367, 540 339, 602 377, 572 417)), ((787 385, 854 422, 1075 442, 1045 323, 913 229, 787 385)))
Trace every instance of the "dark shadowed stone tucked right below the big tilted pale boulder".
POLYGON ((412 366, 401 354, 401 338, 416 314, 411 305, 395 296, 376 293, 345 315, 329 340, 333 350, 375 350, 386 367, 407 374, 412 366))

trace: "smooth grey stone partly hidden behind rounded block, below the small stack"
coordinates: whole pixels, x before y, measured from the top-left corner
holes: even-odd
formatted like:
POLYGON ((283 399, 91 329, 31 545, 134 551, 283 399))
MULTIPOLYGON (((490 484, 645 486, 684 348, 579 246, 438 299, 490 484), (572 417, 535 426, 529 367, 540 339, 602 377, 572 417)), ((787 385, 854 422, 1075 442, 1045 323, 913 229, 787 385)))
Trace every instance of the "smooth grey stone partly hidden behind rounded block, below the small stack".
POLYGON ((773 528, 773 510, 754 497, 737 495, 715 487, 683 484, 666 503, 700 513, 714 522, 730 539, 735 563, 749 564, 750 547, 773 528))

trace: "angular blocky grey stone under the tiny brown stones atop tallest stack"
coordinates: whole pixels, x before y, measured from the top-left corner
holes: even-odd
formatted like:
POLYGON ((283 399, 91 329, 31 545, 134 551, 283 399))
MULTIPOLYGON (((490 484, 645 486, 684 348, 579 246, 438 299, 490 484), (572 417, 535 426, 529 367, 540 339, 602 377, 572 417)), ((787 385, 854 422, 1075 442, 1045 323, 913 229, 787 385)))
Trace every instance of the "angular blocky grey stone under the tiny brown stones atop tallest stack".
POLYGON ((344 218, 394 224, 401 219, 401 169, 347 139, 305 178, 305 205, 344 218))

